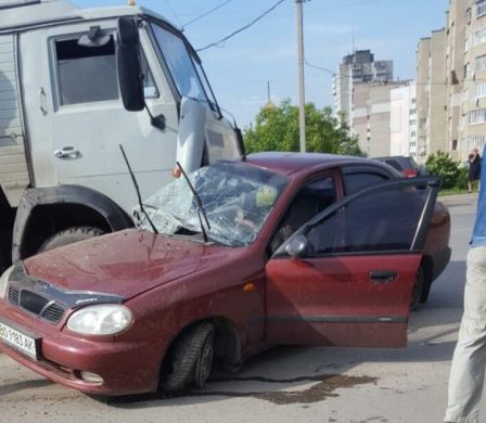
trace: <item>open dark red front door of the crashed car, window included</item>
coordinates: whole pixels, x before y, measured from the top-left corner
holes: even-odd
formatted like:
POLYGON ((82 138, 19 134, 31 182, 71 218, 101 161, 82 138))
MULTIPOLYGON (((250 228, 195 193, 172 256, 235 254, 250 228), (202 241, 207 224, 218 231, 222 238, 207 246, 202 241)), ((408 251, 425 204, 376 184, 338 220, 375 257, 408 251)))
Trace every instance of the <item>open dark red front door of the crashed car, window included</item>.
POLYGON ((373 185, 297 230, 266 267, 269 344, 402 347, 438 178, 373 185))

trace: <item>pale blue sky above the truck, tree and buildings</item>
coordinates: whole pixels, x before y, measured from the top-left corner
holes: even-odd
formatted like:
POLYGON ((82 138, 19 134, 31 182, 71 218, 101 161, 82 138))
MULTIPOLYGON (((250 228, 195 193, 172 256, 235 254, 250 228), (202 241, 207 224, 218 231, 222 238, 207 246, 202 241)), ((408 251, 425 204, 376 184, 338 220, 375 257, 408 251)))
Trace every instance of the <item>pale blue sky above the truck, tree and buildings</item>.
MULTIPOLYGON (((126 0, 71 0, 80 8, 126 4, 126 0)), ((184 28, 195 49, 247 25, 278 0, 137 0, 184 28), (220 5, 220 8, 218 8, 220 5), (192 20, 216 9, 193 23, 192 20)), ((420 38, 445 26, 448 0, 308 0, 304 11, 304 52, 309 64, 335 72, 353 50, 371 50, 375 60, 393 60, 394 78, 415 78, 420 38)), ((220 105, 245 128, 267 103, 298 104, 296 4, 281 3, 228 41, 201 51, 220 105)), ((306 102, 332 105, 332 74, 305 66, 306 102)))

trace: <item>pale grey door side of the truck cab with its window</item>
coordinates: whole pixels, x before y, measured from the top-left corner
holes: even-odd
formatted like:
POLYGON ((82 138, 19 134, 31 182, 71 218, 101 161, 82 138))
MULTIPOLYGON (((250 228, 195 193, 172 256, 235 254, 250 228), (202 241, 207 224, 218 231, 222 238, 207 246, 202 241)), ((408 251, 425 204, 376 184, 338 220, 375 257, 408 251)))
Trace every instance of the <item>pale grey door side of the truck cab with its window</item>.
POLYGON ((142 197, 155 192, 170 180, 176 161, 177 103, 163 74, 150 70, 159 65, 141 28, 145 99, 153 115, 164 115, 166 129, 152 126, 145 111, 127 112, 118 92, 116 21, 92 25, 100 29, 82 23, 21 37, 35 184, 85 185, 129 211, 137 198, 118 145, 142 197))

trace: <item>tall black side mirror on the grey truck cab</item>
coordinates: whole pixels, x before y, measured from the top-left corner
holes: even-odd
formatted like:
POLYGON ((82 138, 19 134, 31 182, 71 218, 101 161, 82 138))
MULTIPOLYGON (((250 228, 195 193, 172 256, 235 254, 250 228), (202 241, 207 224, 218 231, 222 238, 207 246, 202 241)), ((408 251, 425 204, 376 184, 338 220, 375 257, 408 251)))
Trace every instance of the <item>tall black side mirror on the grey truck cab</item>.
POLYGON ((116 51, 118 84, 124 106, 130 112, 145 107, 143 76, 140 66, 140 42, 137 21, 132 17, 118 18, 118 47, 116 51))

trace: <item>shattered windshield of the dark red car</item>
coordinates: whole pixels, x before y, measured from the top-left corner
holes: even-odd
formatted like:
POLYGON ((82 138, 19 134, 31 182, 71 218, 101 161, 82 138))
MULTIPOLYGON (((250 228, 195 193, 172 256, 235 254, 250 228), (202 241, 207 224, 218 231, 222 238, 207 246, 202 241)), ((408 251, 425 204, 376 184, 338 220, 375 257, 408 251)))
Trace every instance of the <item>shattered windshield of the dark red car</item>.
MULTIPOLYGON (((219 162, 188 175, 207 216, 209 241, 231 246, 252 243, 286 178, 243 163, 219 162)), ((159 233, 201 236, 197 204, 184 178, 165 185, 144 203, 145 211, 159 233)), ((135 210, 137 227, 152 231, 146 217, 135 210)))

